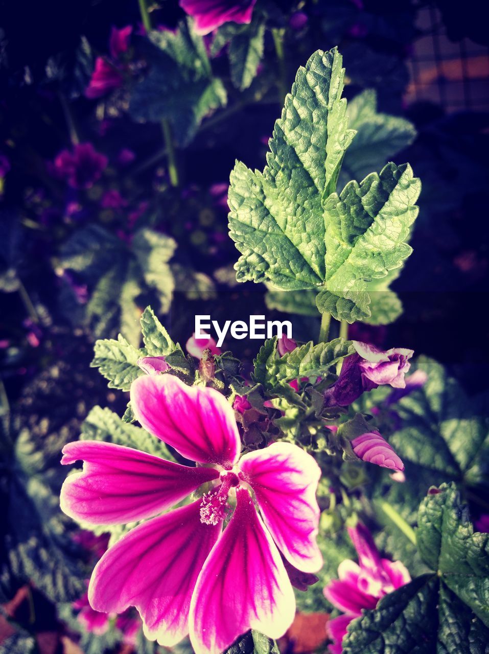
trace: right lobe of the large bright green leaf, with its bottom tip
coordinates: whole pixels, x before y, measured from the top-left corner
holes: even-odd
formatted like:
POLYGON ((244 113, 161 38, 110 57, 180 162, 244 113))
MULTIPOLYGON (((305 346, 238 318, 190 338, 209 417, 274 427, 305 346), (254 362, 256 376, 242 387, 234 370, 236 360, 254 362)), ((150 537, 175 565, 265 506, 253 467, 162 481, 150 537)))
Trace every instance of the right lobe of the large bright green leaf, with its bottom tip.
POLYGON ((325 204, 326 281, 318 309, 337 320, 371 316, 367 283, 386 277, 411 254, 407 244, 418 215, 420 182, 407 163, 388 163, 358 184, 349 182, 325 204))

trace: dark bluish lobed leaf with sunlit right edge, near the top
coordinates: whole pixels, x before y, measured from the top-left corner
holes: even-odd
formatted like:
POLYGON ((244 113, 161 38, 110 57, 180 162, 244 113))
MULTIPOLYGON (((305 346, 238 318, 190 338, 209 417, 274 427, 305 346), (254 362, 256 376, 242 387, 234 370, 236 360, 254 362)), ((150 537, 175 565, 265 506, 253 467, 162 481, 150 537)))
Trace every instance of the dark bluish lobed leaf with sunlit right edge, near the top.
POLYGON ((176 33, 152 31, 145 54, 149 72, 131 91, 129 112, 136 120, 169 120, 178 143, 187 145, 203 118, 227 102, 203 39, 182 21, 176 33))

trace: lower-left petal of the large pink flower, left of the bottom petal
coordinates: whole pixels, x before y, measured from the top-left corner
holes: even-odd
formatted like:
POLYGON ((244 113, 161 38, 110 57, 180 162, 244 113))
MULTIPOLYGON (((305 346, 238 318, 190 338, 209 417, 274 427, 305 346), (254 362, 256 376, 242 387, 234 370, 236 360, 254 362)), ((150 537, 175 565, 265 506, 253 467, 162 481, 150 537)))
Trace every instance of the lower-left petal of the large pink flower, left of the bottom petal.
POLYGON ((201 500, 135 527, 93 570, 88 598, 97 611, 135 606, 146 638, 175 645, 188 634, 195 580, 222 530, 200 521, 201 500))

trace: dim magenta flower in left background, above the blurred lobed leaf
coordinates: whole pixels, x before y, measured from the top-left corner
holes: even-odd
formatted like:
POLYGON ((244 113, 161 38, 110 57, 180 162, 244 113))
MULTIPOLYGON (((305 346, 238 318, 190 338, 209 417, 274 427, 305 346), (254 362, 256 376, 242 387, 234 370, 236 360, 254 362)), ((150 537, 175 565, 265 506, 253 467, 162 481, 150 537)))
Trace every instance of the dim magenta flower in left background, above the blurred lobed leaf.
POLYGON ((54 160, 52 172, 72 188, 90 188, 100 179, 109 160, 95 151, 92 143, 78 143, 73 152, 63 150, 54 160))

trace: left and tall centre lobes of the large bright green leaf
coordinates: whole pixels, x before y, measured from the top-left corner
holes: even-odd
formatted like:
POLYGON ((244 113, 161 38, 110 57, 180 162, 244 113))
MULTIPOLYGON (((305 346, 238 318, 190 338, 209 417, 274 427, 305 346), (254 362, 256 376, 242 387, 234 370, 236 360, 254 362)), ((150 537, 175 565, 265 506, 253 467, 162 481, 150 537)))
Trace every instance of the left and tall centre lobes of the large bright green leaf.
POLYGON ((266 280, 284 290, 324 281, 322 195, 354 135, 344 120, 343 76, 336 49, 315 52, 297 71, 263 173, 235 165, 229 233, 242 254, 235 264, 239 281, 266 280))

